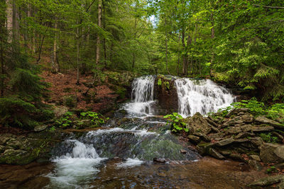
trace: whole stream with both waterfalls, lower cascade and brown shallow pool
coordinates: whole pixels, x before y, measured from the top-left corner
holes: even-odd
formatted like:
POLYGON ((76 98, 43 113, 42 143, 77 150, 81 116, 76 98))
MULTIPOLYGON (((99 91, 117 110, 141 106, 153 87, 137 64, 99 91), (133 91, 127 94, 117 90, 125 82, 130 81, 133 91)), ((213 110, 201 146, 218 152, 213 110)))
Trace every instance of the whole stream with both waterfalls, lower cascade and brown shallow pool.
MULTIPOLYGON (((114 118, 96 130, 68 134, 53 149, 52 166, 32 166, 30 171, 45 171, 21 187, 245 188, 253 181, 257 174, 241 171, 238 162, 202 159, 171 134, 165 119, 155 115, 154 82, 155 76, 135 79, 131 101, 114 118)), ((176 79, 175 86, 184 117, 216 112, 235 101, 226 88, 208 79, 176 79)))

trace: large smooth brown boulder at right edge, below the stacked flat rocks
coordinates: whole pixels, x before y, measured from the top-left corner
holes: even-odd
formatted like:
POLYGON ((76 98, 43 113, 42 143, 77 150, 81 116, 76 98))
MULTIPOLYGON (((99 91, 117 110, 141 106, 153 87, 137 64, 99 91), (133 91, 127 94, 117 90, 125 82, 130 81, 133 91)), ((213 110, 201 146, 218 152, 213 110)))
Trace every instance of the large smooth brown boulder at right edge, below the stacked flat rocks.
POLYGON ((284 145, 263 143, 260 157, 261 160, 266 163, 284 162, 284 145))

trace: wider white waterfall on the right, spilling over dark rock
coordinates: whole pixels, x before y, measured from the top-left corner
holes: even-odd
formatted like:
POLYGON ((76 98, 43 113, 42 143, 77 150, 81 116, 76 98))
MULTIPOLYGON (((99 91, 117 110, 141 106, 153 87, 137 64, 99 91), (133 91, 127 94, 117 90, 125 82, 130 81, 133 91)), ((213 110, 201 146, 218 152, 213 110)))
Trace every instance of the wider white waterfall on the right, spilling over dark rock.
POLYGON ((207 115, 217 112, 234 103, 235 97, 226 88, 218 86, 209 79, 176 79, 178 91, 178 109, 183 117, 195 115, 199 112, 207 115))

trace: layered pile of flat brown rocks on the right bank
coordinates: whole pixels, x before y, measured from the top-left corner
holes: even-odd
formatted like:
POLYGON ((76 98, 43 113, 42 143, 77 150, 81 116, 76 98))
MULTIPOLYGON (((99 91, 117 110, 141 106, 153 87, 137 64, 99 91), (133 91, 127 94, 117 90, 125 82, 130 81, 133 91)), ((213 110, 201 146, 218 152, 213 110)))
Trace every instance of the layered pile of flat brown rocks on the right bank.
MULTIPOLYGON (((197 151, 216 159, 234 159, 261 171, 263 163, 284 168, 284 125, 265 116, 253 116, 249 109, 235 108, 226 115, 215 113, 207 118, 196 113, 183 120, 187 124, 187 139, 197 151)), ((263 178, 251 187, 277 183, 283 186, 283 176, 263 178)))

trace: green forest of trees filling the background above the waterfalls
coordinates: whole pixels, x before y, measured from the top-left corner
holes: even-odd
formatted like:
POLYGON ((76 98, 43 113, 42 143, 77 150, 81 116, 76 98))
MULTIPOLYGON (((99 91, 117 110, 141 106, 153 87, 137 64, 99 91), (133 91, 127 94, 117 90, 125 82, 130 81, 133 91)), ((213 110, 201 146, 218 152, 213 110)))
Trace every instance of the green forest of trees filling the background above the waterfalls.
POLYGON ((76 70, 77 84, 81 74, 96 79, 104 70, 205 77, 283 101, 283 7, 280 0, 1 1, 1 102, 39 107, 43 69, 76 70))

